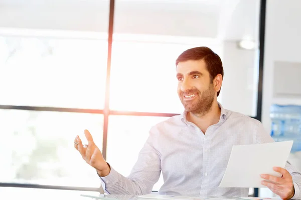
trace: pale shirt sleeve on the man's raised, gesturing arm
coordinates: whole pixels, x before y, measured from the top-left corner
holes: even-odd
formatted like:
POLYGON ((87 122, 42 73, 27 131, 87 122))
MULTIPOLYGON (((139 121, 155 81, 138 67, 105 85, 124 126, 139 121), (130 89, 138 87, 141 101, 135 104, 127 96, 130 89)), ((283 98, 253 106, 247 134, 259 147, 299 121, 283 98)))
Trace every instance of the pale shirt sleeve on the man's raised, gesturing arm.
POLYGON ((141 195, 152 192, 161 173, 161 155, 154 147, 155 140, 156 133, 150 130, 129 176, 121 175, 113 167, 107 176, 100 176, 101 185, 107 193, 141 195))

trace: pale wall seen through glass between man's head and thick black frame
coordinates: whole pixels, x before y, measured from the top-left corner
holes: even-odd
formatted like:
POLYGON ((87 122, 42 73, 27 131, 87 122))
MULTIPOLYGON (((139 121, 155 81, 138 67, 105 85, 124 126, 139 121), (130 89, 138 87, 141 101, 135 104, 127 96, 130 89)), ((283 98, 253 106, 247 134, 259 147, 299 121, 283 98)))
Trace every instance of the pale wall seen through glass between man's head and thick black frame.
MULTIPOLYGON (((235 0, 231 0, 233 3, 235 0)), ((240 0, 232 4, 231 15, 220 22, 224 79, 221 102, 227 109, 250 116, 257 113, 258 56, 257 49, 239 48, 241 39, 259 43, 260 0, 240 0)))

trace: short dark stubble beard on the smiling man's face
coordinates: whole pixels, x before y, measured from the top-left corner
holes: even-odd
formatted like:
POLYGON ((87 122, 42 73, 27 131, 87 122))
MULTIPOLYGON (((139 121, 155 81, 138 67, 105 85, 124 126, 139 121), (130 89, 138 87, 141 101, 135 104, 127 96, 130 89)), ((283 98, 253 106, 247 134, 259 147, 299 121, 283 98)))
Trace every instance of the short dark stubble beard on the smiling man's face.
POLYGON ((215 91, 213 89, 213 84, 209 85, 209 88, 200 92, 198 89, 191 89, 186 92, 181 91, 180 100, 184 105, 185 110, 198 115, 205 115, 211 109, 213 100, 215 96, 215 91), (186 94, 196 93, 197 96, 192 100, 185 100, 186 94))

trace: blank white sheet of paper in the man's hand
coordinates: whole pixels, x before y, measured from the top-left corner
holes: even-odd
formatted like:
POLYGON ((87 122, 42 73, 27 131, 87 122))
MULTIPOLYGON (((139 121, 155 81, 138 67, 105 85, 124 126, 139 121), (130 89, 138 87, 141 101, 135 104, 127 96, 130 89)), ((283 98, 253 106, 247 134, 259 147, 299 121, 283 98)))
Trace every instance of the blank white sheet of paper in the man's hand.
POLYGON ((266 187, 261 184, 260 174, 280 177, 273 166, 284 168, 292 143, 291 140, 233 146, 219 187, 266 187))

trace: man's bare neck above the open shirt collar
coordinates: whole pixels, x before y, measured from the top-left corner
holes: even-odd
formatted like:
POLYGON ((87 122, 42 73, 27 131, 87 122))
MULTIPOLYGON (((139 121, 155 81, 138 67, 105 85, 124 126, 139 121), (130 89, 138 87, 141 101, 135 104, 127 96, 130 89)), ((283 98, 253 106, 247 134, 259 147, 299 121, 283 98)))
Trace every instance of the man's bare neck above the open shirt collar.
POLYGON ((218 103, 216 100, 213 101, 210 109, 206 113, 187 113, 187 120, 193 122, 196 124, 205 134, 207 128, 210 125, 216 124, 219 122, 221 116, 221 109, 218 106, 218 103))

